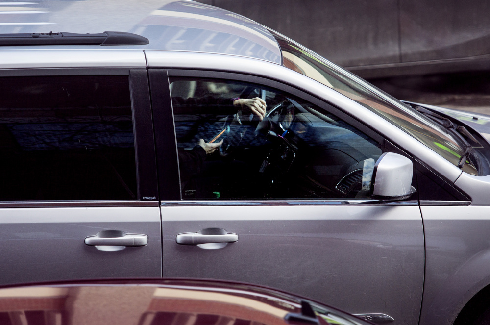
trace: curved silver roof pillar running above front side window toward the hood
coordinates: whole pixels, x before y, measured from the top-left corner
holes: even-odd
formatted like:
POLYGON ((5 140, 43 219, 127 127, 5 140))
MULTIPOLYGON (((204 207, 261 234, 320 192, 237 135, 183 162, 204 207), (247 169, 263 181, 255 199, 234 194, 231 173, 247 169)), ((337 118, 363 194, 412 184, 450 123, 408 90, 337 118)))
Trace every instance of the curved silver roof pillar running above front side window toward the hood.
POLYGON ((437 166, 439 173, 450 182, 456 181, 462 173, 459 168, 442 158, 438 153, 424 146, 417 139, 362 105, 305 75, 298 74, 278 64, 222 54, 145 50, 145 55, 149 68, 185 68, 238 72, 246 75, 263 76, 287 83, 339 107, 357 120, 370 125, 377 132, 380 132, 427 165, 437 166))

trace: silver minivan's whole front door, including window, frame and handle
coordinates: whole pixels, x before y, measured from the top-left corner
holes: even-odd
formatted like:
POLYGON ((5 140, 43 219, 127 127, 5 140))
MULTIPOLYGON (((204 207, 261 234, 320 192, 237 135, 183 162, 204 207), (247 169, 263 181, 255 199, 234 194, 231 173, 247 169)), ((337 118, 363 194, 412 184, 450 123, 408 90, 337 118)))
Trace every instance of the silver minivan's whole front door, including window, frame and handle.
POLYGON ((417 198, 368 196, 374 162, 395 146, 272 80, 149 74, 167 191, 164 276, 259 283, 370 320, 417 324, 424 276, 417 198), (265 101, 268 115, 259 121, 237 99, 265 101), (173 134, 177 146, 168 141, 173 134))

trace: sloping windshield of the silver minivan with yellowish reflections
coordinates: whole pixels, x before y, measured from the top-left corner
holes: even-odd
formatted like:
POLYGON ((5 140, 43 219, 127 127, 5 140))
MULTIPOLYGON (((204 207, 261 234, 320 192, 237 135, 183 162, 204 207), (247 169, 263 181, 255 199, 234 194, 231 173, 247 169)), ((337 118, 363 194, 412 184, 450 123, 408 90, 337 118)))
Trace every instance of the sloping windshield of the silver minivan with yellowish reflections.
MULTIPOLYGON (((317 80, 356 101, 458 166, 466 148, 442 126, 315 52, 273 30, 269 31, 281 47, 283 66, 317 80)), ((462 169, 470 174, 476 173, 469 160, 462 169)))

